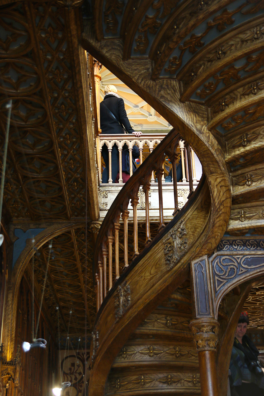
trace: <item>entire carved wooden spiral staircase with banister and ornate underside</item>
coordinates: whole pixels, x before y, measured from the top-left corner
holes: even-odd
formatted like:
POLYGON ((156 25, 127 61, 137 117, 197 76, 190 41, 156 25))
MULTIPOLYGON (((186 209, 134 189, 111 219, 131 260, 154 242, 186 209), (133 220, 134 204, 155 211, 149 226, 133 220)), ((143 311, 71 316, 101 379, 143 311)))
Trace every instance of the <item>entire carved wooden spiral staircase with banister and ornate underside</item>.
MULTIPOLYGON (((229 303, 219 308, 219 298, 218 305, 212 305, 215 315, 201 318, 196 267, 190 263, 202 258, 207 265, 197 267, 197 276, 209 274, 207 256, 224 232, 244 235, 253 228, 262 234, 263 2, 106 3, 96 3, 94 22, 84 21, 82 45, 174 129, 126 183, 97 238, 98 314, 89 394, 224 396, 234 324, 252 283, 248 278, 248 283, 240 280, 240 289, 230 286, 229 303), (151 7, 158 14, 150 18, 151 7), (202 23, 207 28, 196 34, 202 23), (203 177, 195 192, 190 186, 189 200, 180 211, 174 183, 174 217, 164 224, 161 162, 164 153, 174 159, 180 137, 198 155, 203 177), (147 197, 152 171, 159 185, 160 228, 151 240, 147 197), (146 196, 146 245, 141 251, 140 186, 146 196), (131 260, 125 239, 129 200, 131 260), (122 248, 120 227, 124 227, 122 248)), ((258 276, 263 277, 262 272, 258 276)), ((210 288, 204 286, 205 295, 210 288)))

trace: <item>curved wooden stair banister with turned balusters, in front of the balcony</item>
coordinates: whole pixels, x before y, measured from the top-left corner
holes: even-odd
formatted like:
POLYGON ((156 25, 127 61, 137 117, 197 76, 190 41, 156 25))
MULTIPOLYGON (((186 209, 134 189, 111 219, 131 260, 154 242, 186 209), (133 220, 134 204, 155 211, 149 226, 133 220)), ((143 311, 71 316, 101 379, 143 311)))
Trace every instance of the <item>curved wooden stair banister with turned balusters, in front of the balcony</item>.
MULTIPOLYGON (((124 138, 124 136, 122 136, 124 138)), ((103 141, 109 142, 109 137, 104 136, 103 141)), ((131 139, 131 137, 125 136, 127 145, 129 148, 133 147, 134 141, 139 146, 144 143, 139 143, 137 139, 131 139), (130 139, 130 141, 129 141, 130 139)), ((122 141, 120 138, 120 145, 122 141)), ((113 143, 114 144, 114 143, 113 143)), ((101 142, 101 147, 103 143, 101 142)), ((122 146, 121 146, 122 147, 122 146)), ((146 224, 146 242, 145 246, 151 242, 150 234, 150 216, 149 216, 149 205, 148 205, 148 192, 150 190, 151 180, 155 173, 158 179, 158 194, 159 194, 159 206, 160 206, 160 227, 158 232, 165 227, 163 217, 163 196, 162 196, 162 179, 164 174, 163 162, 165 155, 171 159, 172 171, 173 171, 173 188, 174 188, 174 212, 176 215, 179 212, 178 207, 178 196, 177 196, 177 175, 176 166, 179 157, 182 155, 180 149, 184 149, 184 142, 180 135, 173 129, 169 134, 160 141, 158 146, 149 154, 146 160, 141 164, 137 171, 130 177, 125 183, 122 190, 114 200, 112 206, 106 214, 103 224, 99 230, 95 246, 95 261, 94 261, 94 276, 97 279, 97 308, 101 305, 103 299, 106 297, 108 291, 111 290, 114 282, 118 280, 120 273, 129 266, 128 259, 128 230, 127 220, 129 217, 129 202, 133 208, 133 257, 132 261, 139 255, 138 245, 138 221, 137 221, 137 205, 139 202, 139 189, 142 186, 142 191, 145 195, 145 224, 146 224), (177 150, 178 148, 178 150, 177 150), (122 223, 120 223, 122 219, 122 223), (123 230, 123 247, 120 249, 119 244, 119 231, 120 227, 123 230), (114 252, 113 252, 114 249, 114 252), (122 251, 122 253, 121 253, 122 251), (98 274, 98 275, 97 275, 98 274)), ((188 178, 190 185, 190 194, 193 192, 192 183, 192 155, 190 146, 185 143, 187 153, 187 168, 188 178)), ((110 147, 111 148, 111 147, 110 147)), ((142 147, 141 147, 142 148, 142 147)), ((152 147, 153 148, 153 147, 152 147)), ((132 150, 132 148, 131 148, 132 150)), ((183 150, 182 150, 183 151, 183 150)), ((183 162, 184 164, 184 162, 183 162)), ((131 262, 132 262, 131 261, 131 262)))

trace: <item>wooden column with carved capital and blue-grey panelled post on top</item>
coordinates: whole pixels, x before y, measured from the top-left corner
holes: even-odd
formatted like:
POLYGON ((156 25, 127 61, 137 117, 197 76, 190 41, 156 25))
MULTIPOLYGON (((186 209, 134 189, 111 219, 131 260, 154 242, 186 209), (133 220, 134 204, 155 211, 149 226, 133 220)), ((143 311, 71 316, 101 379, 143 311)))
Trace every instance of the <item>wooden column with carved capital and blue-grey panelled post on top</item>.
POLYGON ((216 352, 219 323, 214 317, 208 257, 191 263, 194 320, 190 328, 198 352, 201 396, 218 396, 216 352))

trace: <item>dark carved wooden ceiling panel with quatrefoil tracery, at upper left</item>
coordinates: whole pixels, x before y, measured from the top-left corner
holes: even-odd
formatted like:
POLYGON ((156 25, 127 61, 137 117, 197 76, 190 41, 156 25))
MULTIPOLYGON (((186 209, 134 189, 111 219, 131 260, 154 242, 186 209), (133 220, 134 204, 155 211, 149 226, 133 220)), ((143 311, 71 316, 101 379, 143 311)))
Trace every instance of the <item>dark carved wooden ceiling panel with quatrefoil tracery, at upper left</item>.
POLYGON ((0 29, 2 131, 12 99, 4 193, 11 217, 84 217, 84 141, 65 10, 13 3, 1 10, 0 29))

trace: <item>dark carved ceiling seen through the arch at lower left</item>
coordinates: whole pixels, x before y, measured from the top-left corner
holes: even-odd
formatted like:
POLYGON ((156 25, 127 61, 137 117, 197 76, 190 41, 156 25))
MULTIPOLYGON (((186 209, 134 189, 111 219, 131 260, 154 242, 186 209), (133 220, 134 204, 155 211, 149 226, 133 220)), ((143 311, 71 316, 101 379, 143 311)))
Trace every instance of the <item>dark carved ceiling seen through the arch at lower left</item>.
MULTIPOLYGON (((43 290, 47 261, 47 284, 44 292, 46 312, 49 312, 51 323, 60 334, 78 336, 91 332, 95 320, 95 291, 93 286, 92 262, 93 241, 85 228, 78 228, 60 234, 44 244, 34 257, 35 287, 38 299, 43 290), (49 259, 49 244, 52 251, 49 259), (87 250, 86 250, 87 244, 87 250), (85 266, 87 263, 87 267, 85 266), (86 291, 86 292, 85 292, 86 291), (87 295, 87 306, 85 300, 87 295)), ((32 259, 28 264, 26 276, 32 282, 32 259)))

